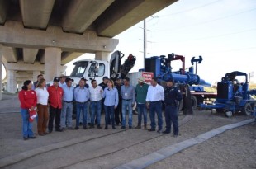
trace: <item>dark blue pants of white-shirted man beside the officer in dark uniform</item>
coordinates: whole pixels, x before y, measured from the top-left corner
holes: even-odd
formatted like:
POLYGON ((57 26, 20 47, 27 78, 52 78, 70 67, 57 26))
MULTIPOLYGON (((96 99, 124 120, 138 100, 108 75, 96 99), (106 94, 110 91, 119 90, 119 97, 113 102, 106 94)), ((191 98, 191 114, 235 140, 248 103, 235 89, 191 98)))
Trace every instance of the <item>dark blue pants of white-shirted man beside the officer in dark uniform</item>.
POLYGON ((149 104, 149 117, 151 121, 151 129, 155 129, 155 112, 156 115, 158 115, 158 124, 159 124, 159 130, 162 130, 163 128, 163 117, 162 117, 162 102, 161 101, 154 101, 150 102, 149 104))

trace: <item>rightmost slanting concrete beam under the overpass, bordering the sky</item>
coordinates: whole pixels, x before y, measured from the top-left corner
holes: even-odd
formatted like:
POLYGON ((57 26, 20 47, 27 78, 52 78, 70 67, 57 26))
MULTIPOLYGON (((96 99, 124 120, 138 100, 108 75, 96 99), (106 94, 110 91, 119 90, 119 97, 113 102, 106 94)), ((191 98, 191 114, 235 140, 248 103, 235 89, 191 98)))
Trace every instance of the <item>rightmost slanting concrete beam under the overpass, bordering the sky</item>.
POLYGON ((121 0, 115 1, 95 21, 97 34, 114 37, 178 0, 121 0))

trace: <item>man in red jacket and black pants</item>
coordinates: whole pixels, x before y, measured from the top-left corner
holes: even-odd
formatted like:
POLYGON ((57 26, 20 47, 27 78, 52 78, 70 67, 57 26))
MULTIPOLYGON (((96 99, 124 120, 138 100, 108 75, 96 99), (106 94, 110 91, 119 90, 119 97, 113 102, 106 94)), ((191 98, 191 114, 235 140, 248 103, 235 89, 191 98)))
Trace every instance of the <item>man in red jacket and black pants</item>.
POLYGON ((48 87, 49 92, 49 102, 50 102, 50 117, 48 123, 49 133, 53 131, 53 124, 55 119, 55 131, 63 131, 60 129, 60 115, 62 108, 62 97, 63 89, 59 87, 59 77, 54 78, 54 84, 48 87))

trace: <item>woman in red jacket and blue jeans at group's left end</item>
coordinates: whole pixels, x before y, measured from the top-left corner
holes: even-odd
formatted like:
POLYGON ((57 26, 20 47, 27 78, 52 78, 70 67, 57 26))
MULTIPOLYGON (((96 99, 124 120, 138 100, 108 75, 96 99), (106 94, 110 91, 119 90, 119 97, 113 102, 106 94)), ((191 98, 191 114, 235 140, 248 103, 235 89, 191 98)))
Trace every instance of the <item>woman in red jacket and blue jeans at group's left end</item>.
POLYGON ((24 82, 24 86, 22 87, 21 92, 19 92, 24 140, 27 140, 28 138, 36 138, 32 131, 33 123, 29 121, 29 110, 35 110, 37 102, 36 92, 34 90, 31 90, 31 88, 32 83, 30 80, 27 80, 24 82))

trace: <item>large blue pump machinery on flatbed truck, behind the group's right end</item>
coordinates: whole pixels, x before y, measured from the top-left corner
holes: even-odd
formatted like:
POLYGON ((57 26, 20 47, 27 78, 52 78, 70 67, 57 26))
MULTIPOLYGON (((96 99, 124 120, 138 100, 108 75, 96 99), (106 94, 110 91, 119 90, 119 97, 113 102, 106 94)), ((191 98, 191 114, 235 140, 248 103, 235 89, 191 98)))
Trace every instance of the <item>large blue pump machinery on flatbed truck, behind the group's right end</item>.
MULTIPOLYGON (((202 58, 199 59, 192 58, 192 63, 198 62, 201 63, 202 58)), ((216 93, 206 92, 204 90, 204 86, 211 86, 210 83, 205 82, 205 80, 201 79, 197 74, 194 73, 194 68, 188 68, 188 72, 185 70, 185 57, 177 54, 168 54, 168 57, 161 56, 153 56, 145 59, 145 72, 154 73, 154 77, 158 77, 161 85, 165 86, 165 81, 168 78, 173 78, 177 87, 183 92, 183 104, 184 106, 180 106, 180 108, 184 109, 185 105, 191 105, 192 109, 195 109, 198 105, 203 103, 204 100, 209 98, 216 98, 216 93), (172 71, 172 62, 174 60, 182 61, 182 68, 178 71, 172 71)), ((191 108, 187 106, 185 109, 189 109, 191 112, 191 108)))

